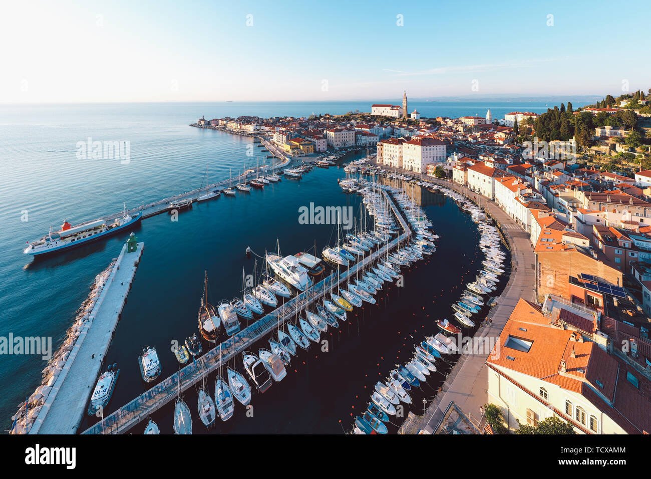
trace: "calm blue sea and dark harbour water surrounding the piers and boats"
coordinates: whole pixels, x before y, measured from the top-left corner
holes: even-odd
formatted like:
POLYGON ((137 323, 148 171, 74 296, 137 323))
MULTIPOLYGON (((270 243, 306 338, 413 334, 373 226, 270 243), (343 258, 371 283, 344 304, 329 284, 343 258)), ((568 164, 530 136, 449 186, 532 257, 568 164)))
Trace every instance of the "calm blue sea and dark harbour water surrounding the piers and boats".
MULTIPOLYGON (((431 114, 421 106, 415 108, 431 114)), ((437 114, 475 114, 484 106, 467 105, 458 113, 452 113, 457 106, 445 108, 437 114)), ((490 108, 498 117, 500 107, 490 108)), ((531 105, 502 108, 538 111, 531 105)), ((94 277, 118 255, 124 241, 115 237, 33 263, 21 249, 49 225, 114 212, 122 208, 122 201, 135 207, 196 188, 206 165, 210 181, 216 181, 227 178, 229 169, 236 172, 255 164, 255 158, 246 156, 251 139, 187 126, 201 115, 307 115, 350 109, 354 108, 349 102, 0 106, 0 336, 9 332, 52 336, 57 347, 94 277), (130 164, 77 159, 76 143, 88 137, 130 141, 130 164)), ((299 225, 298 208, 313 201, 359 211, 360 198, 342 194, 337 185, 337 177, 343 175, 339 168, 314 169, 301 181, 285 179, 262 191, 195 205, 176 223, 159 215, 137 227, 145 252, 107 358, 122 369, 109 411, 143 391, 136 359, 144 345, 159 349, 165 376, 176 370, 170 343, 196 330, 204 270, 211 300, 219 302, 239 295, 243 268, 247 274, 253 272, 255 257, 245 257, 247 246, 264 254, 279 240, 281 252, 293 254, 315 243, 320 252, 334 242, 336 231, 329 225, 299 225)), ((283 383, 274 385, 264 398, 254 398, 256 419, 245 418, 241 408, 223 431, 337 433, 342 425, 350 429, 352 408, 359 411, 375 381, 399 359, 408 358, 413 343, 408 335, 430 334, 434 319, 452 315, 449 304, 458 297, 459 285, 478 269, 477 233, 454 203, 428 192, 423 199, 442 235, 439 252, 406 274, 404 288, 393 287, 383 295, 379 302, 386 304, 366 306, 334 332, 330 353, 295 358, 283 383)), ((266 347, 266 341, 261 346, 266 347)), ((8 429, 18 403, 40 384, 45 362, 40 356, 0 359, 0 385, 5 386, 0 422, 8 429)), ((211 390, 212 381, 210 377, 211 390)), ((196 398, 186 399, 196 411, 196 398)), ((169 412, 163 409, 155 418, 167 432, 171 432, 169 412)))

